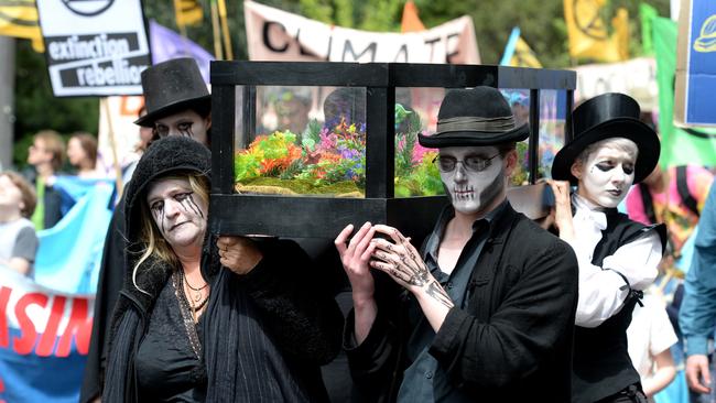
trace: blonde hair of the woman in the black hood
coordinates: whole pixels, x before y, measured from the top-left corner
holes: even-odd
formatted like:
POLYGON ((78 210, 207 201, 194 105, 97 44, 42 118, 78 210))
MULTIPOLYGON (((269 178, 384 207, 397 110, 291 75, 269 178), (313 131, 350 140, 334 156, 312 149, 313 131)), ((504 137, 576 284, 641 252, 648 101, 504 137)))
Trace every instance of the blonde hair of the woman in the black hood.
MULTIPOLYGON (((199 199, 202 199, 202 202, 204 202, 206 206, 208 206, 209 181, 203 173, 174 173, 169 176, 158 177, 152 182, 160 179, 188 179, 192 190, 199 197, 199 199)), ((137 195, 135 197, 142 197, 143 194, 144 192, 137 195)), ((140 254, 140 258, 132 269, 132 283, 137 290, 141 291, 144 294, 149 294, 144 290, 140 288, 139 285, 137 285, 137 274, 142 263, 144 263, 150 257, 154 257, 159 261, 170 264, 172 268, 177 268, 180 265, 180 261, 172 247, 166 242, 159 228, 156 227, 156 222, 154 222, 154 218, 152 217, 152 213, 150 211, 147 200, 137 199, 135 203, 139 203, 140 215, 138 218, 141 220, 138 243, 142 246, 142 249, 137 252, 137 254, 140 254)))

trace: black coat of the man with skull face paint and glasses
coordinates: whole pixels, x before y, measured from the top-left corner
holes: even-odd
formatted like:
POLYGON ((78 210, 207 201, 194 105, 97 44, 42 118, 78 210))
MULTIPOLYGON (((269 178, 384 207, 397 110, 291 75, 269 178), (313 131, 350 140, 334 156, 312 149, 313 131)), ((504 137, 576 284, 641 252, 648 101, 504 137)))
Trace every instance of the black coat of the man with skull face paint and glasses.
MULTIPOLYGON (((430 353, 452 385, 475 401, 568 402, 576 257, 509 205, 489 230, 473 269, 467 307, 449 311, 430 353)), ((379 296, 378 316, 359 346, 352 313, 348 317, 344 347, 365 401, 394 401, 410 364, 403 353, 412 330, 405 328, 404 303, 416 302, 379 296)))

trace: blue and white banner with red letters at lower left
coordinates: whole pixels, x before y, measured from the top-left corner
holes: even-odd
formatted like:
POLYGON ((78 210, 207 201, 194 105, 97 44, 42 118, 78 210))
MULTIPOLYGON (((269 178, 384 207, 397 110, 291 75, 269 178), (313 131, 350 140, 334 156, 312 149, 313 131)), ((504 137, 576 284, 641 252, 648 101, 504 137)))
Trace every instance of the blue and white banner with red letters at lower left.
POLYGON ((0 401, 77 402, 93 307, 0 265, 0 401))

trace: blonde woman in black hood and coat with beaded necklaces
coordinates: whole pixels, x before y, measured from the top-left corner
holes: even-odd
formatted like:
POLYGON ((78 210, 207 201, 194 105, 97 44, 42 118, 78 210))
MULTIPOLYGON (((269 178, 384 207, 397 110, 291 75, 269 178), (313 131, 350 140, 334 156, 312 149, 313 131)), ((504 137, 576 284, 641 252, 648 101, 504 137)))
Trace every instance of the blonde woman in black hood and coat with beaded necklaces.
POLYGON ((102 401, 326 402, 341 314, 295 242, 208 231, 210 153, 156 141, 127 189, 102 401))

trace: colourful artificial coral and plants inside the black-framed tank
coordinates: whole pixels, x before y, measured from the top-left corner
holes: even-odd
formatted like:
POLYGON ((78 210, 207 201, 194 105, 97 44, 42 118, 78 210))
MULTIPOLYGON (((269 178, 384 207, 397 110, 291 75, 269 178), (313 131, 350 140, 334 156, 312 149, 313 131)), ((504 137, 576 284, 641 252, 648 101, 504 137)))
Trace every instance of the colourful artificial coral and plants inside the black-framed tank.
MULTIPOLYGON (((417 113, 395 105, 395 196, 443 193, 436 151, 417 143, 417 113)), ((362 197, 366 124, 343 117, 334 127, 314 120, 300 138, 290 131, 259 135, 235 157, 237 190, 362 197)))

